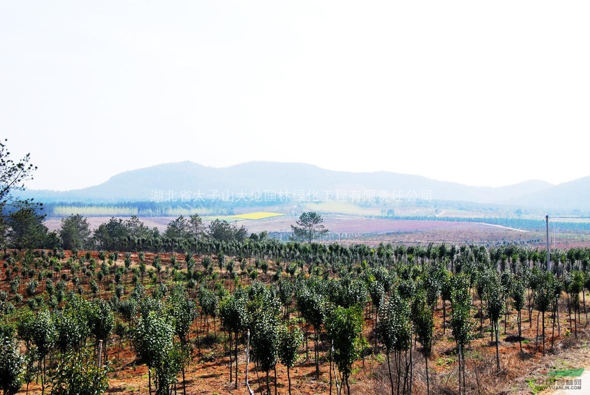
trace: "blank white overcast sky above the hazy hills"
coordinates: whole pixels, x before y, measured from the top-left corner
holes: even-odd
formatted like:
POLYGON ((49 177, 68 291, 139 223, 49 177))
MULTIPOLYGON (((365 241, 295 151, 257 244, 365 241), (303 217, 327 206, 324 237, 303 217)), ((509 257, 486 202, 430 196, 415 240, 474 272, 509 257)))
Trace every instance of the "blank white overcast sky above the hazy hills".
POLYGON ((166 162, 468 185, 590 175, 587 1, 0 0, 34 189, 166 162))

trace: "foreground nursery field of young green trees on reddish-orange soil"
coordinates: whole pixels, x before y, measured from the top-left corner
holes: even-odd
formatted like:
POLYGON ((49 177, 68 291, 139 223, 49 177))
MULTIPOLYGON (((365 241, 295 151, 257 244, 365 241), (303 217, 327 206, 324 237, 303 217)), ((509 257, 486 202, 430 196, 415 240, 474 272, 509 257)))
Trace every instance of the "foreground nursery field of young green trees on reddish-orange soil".
POLYGON ((6 250, 0 381, 7 394, 537 393, 590 357, 589 253, 552 250, 548 272, 545 250, 516 245, 6 250))

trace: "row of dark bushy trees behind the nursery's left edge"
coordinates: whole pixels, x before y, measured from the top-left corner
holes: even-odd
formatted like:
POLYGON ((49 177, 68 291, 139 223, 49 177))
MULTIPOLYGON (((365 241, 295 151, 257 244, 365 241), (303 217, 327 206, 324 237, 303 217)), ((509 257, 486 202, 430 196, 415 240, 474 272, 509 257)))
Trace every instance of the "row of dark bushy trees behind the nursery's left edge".
MULTIPOLYGON (((245 226, 237 226, 223 220, 214 220, 204 226, 202 218, 194 214, 188 218, 179 216, 170 221, 166 230, 149 228, 136 216, 127 220, 110 218, 94 231, 86 217, 73 214, 61 219, 57 231, 49 231, 45 216, 38 208, 15 210, 0 221, 0 246, 2 249, 67 249, 173 252, 194 249, 197 243, 230 243, 244 241, 248 237, 245 226)), ((267 233, 250 235, 253 239, 265 238, 267 233)))

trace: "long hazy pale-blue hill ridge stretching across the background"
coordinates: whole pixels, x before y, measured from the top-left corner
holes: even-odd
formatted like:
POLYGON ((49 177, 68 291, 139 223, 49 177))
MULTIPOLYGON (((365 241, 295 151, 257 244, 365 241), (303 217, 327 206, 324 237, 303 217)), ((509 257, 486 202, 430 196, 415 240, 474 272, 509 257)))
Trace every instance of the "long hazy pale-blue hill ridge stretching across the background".
MULTIPOLYGON (((588 184, 588 182, 586 182, 588 184)), ((564 185, 564 184, 561 184, 564 185)), ((155 190, 197 191, 205 195, 212 190, 218 195, 251 191, 402 191, 402 196, 430 191, 432 200, 471 201, 476 203, 544 202, 545 191, 555 190, 549 182, 530 180, 506 187, 470 187, 456 182, 437 181, 419 175, 394 172, 342 172, 330 171, 300 163, 248 162, 225 168, 206 167, 194 162, 176 162, 114 175, 106 182, 93 187, 71 191, 28 190, 25 197, 40 201, 81 201, 109 203, 120 201, 149 201, 155 190), (543 194, 541 194, 543 192, 543 194), (543 199, 537 198, 543 196, 543 199), (533 200, 531 200, 533 201, 533 200)), ((572 187, 573 188, 573 187, 572 187)), ((584 191, 579 185, 578 190, 584 191)), ((586 196, 588 188, 585 189, 586 196)), ((204 195, 204 197, 205 197, 204 195)), ((549 203, 550 200, 547 200, 549 203)), ((561 200, 560 200, 561 201, 561 200)), ((520 204, 520 203, 519 203, 520 204)), ((525 203, 522 203, 525 204, 525 203)), ((563 204, 569 204, 565 200, 563 204)))

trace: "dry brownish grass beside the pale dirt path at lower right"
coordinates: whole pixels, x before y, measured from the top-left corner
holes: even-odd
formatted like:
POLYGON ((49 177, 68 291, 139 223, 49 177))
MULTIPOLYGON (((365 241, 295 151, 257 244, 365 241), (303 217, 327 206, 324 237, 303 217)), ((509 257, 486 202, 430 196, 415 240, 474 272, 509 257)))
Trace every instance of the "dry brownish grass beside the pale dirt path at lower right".
MULTIPOLYGON (((584 319, 582 318, 582 321, 584 319)), ((534 329, 534 327, 533 327, 534 329)), ((518 342, 501 341, 500 373, 496 373, 495 345, 489 344, 489 338, 472 342, 466 350, 466 387, 468 394, 530 394, 537 393, 529 386, 529 381, 544 377, 551 371, 568 368, 581 368, 590 365, 590 328, 578 324, 578 338, 573 333, 556 337, 553 348, 550 346, 550 334, 547 333, 546 355, 543 357, 542 347, 534 352, 534 342, 527 345, 524 352, 518 351, 518 342)), ((426 370, 421 347, 416 348, 413 355, 414 371, 412 393, 427 394, 426 370)), ((458 394, 458 365, 452 342, 441 341, 439 338, 428 360, 431 394, 458 394)), ((394 361, 391 361, 392 373, 395 372, 394 361)), ((397 382, 394 373, 394 393, 397 382)), ((533 385, 533 384, 531 384, 533 385)), ((403 377, 402 384, 403 387, 403 377)), ((356 383, 352 393, 389 394, 389 373, 386 363, 375 367, 369 380, 356 383)))

